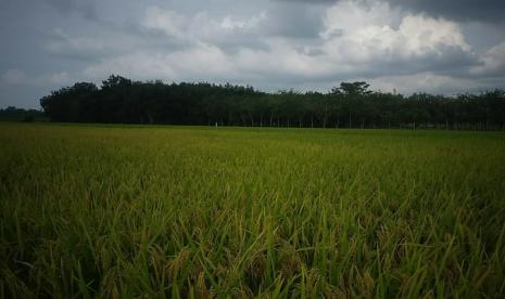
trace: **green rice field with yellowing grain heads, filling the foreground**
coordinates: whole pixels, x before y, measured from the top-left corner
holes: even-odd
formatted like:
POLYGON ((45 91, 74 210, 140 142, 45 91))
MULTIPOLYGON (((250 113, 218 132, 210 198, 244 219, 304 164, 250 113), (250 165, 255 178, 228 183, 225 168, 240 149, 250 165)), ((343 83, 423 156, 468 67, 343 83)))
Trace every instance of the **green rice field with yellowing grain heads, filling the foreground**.
POLYGON ((0 123, 0 296, 503 297, 503 132, 0 123))

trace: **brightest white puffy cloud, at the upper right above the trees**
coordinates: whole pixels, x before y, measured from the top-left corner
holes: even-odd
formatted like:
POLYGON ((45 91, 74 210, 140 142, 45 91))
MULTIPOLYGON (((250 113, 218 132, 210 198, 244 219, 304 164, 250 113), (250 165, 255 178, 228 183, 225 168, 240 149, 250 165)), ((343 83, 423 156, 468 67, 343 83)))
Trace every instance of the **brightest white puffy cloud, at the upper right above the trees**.
POLYGON ((328 10, 325 27, 328 60, 363 75, 447 72, 476 61, 456 23, 402 15, 387 3, 341 1, 328 10))

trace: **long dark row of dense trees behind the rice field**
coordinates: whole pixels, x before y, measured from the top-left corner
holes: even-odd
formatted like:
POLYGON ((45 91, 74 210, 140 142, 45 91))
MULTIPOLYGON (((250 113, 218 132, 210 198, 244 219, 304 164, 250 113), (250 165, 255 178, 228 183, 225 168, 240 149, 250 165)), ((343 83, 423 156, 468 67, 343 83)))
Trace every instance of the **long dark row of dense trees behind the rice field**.
POLYGON ((40 100, 53 121, 320 128, 505 129, 505 92, 457 98, 370 92, 343 82, 328 93, 264 93, 251 87, 135 82, 111 76, 40 100))

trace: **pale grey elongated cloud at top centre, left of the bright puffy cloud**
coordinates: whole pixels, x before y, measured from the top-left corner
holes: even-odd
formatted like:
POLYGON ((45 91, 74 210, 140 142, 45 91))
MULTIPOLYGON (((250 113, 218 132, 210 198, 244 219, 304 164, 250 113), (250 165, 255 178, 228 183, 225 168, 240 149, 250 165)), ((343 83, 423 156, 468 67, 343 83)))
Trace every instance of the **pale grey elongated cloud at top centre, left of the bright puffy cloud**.
POLYGON ((323 27, 321 10, 311 5, 273 4, 249 15, 211 15, 205 11, 190 15, 150 6, 142 26, 161 30, 172 38, 219 44, 261 43, 263 38, 314 39, 323 27))

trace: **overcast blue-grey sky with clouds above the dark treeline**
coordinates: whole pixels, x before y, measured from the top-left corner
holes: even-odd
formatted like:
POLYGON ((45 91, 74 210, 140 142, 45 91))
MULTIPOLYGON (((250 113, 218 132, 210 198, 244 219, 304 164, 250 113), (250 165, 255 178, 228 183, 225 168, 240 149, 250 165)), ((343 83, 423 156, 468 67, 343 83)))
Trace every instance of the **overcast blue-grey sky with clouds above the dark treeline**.
POLYGON ((326 92, 505 88, 503 0, 1 0, 0 108, 111 74, 326 92))

